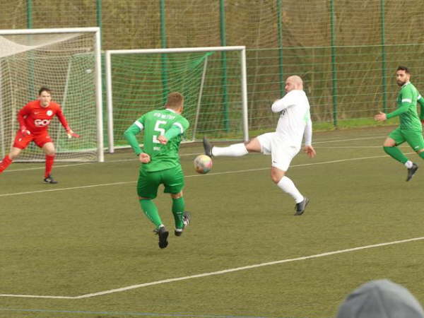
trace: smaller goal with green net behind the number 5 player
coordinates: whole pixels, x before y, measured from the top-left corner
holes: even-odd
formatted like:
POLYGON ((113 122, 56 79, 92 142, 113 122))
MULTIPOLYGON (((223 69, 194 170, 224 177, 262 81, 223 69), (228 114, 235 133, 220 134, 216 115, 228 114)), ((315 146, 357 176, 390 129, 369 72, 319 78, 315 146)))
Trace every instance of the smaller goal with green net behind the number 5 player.
POLYGON ((186 141, 247 140, 245 47, 106 51, 109 150, 127 146, 124 131, 167 94, 184 95, 186 141))

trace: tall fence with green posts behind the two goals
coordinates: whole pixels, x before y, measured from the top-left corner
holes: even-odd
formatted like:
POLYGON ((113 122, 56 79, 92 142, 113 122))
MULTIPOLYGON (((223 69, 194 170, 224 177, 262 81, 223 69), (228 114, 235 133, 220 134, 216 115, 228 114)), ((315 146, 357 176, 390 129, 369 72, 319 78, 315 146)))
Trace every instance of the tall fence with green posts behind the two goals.
MULTIPOLYGON (((245 45, 249 125, 273 129, 285 78, 305 80, 314 122, 394 107, 394 70, 420 89, 421 0, 0 0, 0 28, 100 26, 102 49, 245 45)), ((424 90, 424 89, 423 89, 424 90)))

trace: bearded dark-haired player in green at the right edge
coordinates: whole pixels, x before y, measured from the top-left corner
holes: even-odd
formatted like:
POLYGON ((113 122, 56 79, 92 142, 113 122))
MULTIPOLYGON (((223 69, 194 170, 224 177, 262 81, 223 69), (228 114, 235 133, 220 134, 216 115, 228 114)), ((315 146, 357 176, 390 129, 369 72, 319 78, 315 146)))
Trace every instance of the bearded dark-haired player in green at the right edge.
POLYGON ((397 108, 389 114, 379 112, 374 117, 377 121, 384 121, 399 116, 400 125, 394 131, 391 131, 383 143, 383 148, 391 158, 403 163, 408 169, 406 181, 409 181, 413 177, 418 170, 418 165, 406 158, 397 146, 406 141, 424 159, 424 98, 409 81, 410 78, 411 73, 406 66, 399 66, 396 69, 396 83, 401 86, 396 99, 397 108), (420 104, 419 117, 417 113, 417 102, 420 104))

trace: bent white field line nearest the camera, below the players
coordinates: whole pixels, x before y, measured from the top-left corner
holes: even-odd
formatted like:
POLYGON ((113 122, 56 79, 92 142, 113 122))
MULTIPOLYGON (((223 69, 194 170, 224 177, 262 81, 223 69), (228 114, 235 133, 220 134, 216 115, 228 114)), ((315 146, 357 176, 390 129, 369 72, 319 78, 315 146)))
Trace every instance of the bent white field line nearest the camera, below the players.
POLYGON ((222 271, 212 271, 212 272, 209 272, 209 273, 200 273, 200 274, 191 275, 191 276, 169 278, 169 279, 164 279, 162 281, 152 281, 150 283, 141 283, 141 284, 137 284, 137 285, 130 285, 130 286, 122 287, 122 288, 115 288, 115 289, 110 289, 110 290, 104 290, 104 291, 101 291, 101 292, 98 292, 98 293, 89 293, 89 294, 84 294, 84 295, 79 295, 79 296, 45 296, 45 295, 0 294, 0 297, 52 298, 52 299, 82 299, 82 298, 92 298, 92 297, 96 297, 96 296, 107 295, 107 294, 112 294, 112 293, 119 293, 119 292, 122 292, 122 291, 132 290, 132 289, 136 289, 136 288, 142 288, 142 287, 151 286, 151 285, 160 285, 160 284, 163 284, 163 283, 172 283, 172 282, 175 282, 175 281, 187 281, 187 280, 192 279, 192 278, 201 278, 201 277, 206 277, 206 276, 221 275, 221 274, 225 274, 225 273, 232 273, 234 271, 245 271, 246 269, 256 269, 258 267, 271 266, 271 265, 283 264, 283 263, 289 263, 291 261, 303 261, 305 259, 317 259, 319 257, 327 257, 327 256, 330 256, 330 255, 335 255, 335 254, 341 254, 341 253, 347 253, 347 252, 355 252, 355 251, 359 251, 361 249, 370 249, 370 248, 374 248, 374 247, 382 247, 382 246, 388 246, 388 245, 395 245, 395 244, 401 244, 401 243, 407 243, 407 242, 414 242, 414 241, 419 241, 419 240, 424 240, 424 237, 413 237, 413 238, 406 239, 406 240, 398 240, 398 241, 393 241, 393 242, 384 242, 384 243, 373 244, 373 245, 365 245, 365 246, 361 246, 361 247, 353 247, 351 249, 340 249, 338 251, 325 252, 325 253, 314 254, 314 255, 305 256, 305 257, 296 257, 294 259, 281 259, 280 261, 269 261, 269 262, 266 262, 266 263, 253 264, 253 265, 242 266, 242 267, 235 267, 233 269, 224 269, 222 271))

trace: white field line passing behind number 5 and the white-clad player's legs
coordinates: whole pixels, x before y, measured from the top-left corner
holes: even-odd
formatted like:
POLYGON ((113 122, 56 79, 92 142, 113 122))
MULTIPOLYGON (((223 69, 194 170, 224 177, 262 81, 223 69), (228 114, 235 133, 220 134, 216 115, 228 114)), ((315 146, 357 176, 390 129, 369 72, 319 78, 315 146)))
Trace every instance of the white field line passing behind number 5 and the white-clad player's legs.
MULTIPOLYGON (((405 153, 406 155, 411 153, 405 153)), ((303 163, 301 165, 291 165, 290 167, 306 167, 310 165, 326 165, 328 163, 343 163, 346 161, 355 161, 355 160, 366 160, 366 159, 375 159, 375 158, 384 158, 389 157, 388 155, 375 155, 372 157, 360 157, 360 158, 348 158, 348 159, 339 159, 339 160, 330 160, 330 161, 323 161, 321 163, 303 163)), ((211 175, 228 175, 232 173, 242 173, 242 172, 254 172, 254 171, 261 171, 261 170, 268 170, 269 167, 263 167, 263 168, 255 168, 255 169, 246 169, 246 170, 235 170, 235 171, 225 171, 225 172, 211 172, 207 175, 186 175, 184 178, 190 178, 190 177, 207 177, 211 175)), ((130 184, 135 183, 134 181, 124 181, 124 182, 112 182, 112 183, 101 183, 101 184, 91 184, 88 186, 81 186, 81 187, 69 187, 69 188, 60 188, 60 189, 47 189, 47 190, 37 190, 37 191, 30 191, 30 192, 15 192, 15 193, 6 193, 6 194, 0 194, 0 197, 2 196, 19 196, 23 194, 35 194, 35 193, 42 193, 42 192, 56 192, 56 191, 66 191, 66 190, 75 190, 75 189, 87 189, 87 188, 94 188, 94 187, 107 187, 107 186, 114 186, 114 185, 121 185, 121 184, 130 184)))

